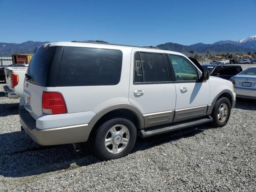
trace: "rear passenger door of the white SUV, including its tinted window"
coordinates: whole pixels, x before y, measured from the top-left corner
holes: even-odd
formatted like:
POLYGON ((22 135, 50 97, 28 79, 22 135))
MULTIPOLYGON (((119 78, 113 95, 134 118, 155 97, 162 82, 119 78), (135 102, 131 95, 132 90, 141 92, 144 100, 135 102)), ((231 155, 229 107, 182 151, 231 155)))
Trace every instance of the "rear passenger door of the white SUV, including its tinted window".
POLYGON ((143 114, 145 127, 173 121, 176 90, 161 50, 132 51, 129 101, 143 114))

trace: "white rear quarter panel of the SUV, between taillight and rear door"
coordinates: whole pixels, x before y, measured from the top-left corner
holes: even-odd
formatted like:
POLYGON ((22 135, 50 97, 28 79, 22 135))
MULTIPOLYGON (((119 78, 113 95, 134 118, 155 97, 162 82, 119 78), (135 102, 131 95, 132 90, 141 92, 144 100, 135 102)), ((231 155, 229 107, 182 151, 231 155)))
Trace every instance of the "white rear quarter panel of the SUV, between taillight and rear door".
POLYGON ((113 86, 71 86, 71 87, 45 87, 44 91, 57 91, 62 93, 66 102, 68 113, 100 110, 113 104, 129 104, 129 81, 131 49, 120 49, 123 53, 120 82, 113 86))

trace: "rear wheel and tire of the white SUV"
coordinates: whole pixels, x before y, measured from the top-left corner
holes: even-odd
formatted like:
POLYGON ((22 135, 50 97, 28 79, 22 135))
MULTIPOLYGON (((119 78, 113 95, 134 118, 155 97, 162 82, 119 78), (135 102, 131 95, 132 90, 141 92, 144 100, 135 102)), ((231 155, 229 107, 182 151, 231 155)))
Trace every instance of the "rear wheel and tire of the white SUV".
POLYGON ((124 157, 136 142, 136 127, 130 120, 120 117, 106 121, 95 132, 92 148, 100 160, 124 157))

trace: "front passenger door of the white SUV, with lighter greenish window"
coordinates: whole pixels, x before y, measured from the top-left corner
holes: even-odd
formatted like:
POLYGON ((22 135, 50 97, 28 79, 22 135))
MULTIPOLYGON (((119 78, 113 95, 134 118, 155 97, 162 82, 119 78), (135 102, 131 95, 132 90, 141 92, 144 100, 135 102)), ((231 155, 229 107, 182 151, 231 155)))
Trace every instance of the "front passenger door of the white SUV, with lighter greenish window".
POLYGON ((210 98, 208 81, 200 82, 200 72, 187 58, 168 54, 176 87, 174 122, 206 115, 210 98))

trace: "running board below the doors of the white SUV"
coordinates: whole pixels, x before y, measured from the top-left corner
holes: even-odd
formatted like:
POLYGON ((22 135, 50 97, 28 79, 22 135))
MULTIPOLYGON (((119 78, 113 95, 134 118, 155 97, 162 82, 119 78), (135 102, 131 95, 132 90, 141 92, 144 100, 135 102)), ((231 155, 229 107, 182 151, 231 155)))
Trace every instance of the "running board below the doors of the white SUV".
POLYGON ((140 130, 139 135, 142 138, 145 138, 145 137, 167 133, 174 130, 184 129, 184 128, 188 128, 191 126, 196 126, 196 125, 200 125, 200 124, 204 124, 212 121, 213 120, 211 116, 204 116, 201 118, 190 119, 182 122, 175 122, 175 123, 164 125, 164 126, 155 126, 155 127, 145 128, 140 130))

